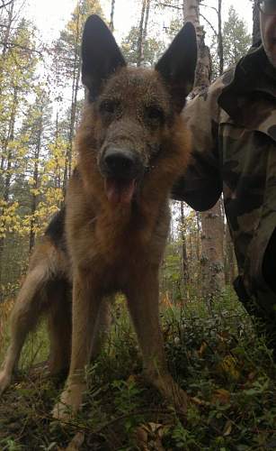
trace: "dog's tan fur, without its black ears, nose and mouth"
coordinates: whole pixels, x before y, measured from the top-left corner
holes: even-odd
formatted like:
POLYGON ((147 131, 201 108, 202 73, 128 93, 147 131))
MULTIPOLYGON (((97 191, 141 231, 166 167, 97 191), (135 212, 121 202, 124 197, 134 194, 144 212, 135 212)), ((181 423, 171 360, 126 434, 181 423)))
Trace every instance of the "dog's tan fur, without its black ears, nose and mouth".
POLYGON ((174 95, 157 70, 119 65, 96 100, 86 102, 76 138, 77 167, 67 189, 65 233, 58 235, 58 242, 46 234, 31 258, 13 309, 12 344, 0 373, 3 391, 26 334, 47 309, 50 370, 70 366, 54 409, 57 418, 66 417, 68 406, 77 410, 81 404, 85 365, 97 353, 97 337, 108 323, 106 299, 118 290, 128 300, 147 377, 166 398, 185 408, 185 393, 167 372, 158 320, 158 270, 170 219, 168 198, 190 155, 190 136, 174 95), (102 113, 99 106, 114 99, 124 110, 111 120, 110 112, 102 113), (156 120, 156 113, 145 120, 145 108, 156 104, 164 120, 156 120), (107 196, 99 167, 110 146, 131 148, 146 168, 131 202, 114 203, 107 196))

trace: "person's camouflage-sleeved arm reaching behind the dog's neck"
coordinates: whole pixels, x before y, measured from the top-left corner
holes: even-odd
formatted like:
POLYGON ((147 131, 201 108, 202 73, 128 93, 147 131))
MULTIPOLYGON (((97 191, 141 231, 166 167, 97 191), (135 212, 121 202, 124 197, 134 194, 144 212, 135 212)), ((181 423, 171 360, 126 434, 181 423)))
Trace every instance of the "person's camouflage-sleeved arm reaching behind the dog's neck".
POLYGON ((207 91, 194 97, 184 108, 183 116, 191 130, 191 163, 174 185, 172 198, 184 200, 195 210, 213 207, 222 191, 218 161, 218 79, 207 91))

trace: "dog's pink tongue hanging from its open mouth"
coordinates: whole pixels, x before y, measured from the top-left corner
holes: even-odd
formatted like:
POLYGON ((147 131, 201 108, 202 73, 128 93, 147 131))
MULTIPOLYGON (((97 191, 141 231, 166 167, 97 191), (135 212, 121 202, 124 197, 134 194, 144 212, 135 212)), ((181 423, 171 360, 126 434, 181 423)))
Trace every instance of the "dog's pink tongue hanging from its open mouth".
POLYGON ((107 198, 111 203, 129 204, 135 190, 135 179, 128 181, 106 179, 105 189, 107 198))

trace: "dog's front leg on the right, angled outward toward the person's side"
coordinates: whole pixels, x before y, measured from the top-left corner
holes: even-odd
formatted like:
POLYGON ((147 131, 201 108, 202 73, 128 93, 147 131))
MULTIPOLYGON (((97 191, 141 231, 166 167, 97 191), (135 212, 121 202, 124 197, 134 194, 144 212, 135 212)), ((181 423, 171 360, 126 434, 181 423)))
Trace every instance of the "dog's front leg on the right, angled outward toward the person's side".
POLYGON ((144 357, 145 373, 149 382, 153 383, 176 409, 185 412, 187 395, 174 382, 165 362, 164 342, 159 324, 158 272, 144 269, 141 274, 132 279, 127 297, 129 312, 144 357))

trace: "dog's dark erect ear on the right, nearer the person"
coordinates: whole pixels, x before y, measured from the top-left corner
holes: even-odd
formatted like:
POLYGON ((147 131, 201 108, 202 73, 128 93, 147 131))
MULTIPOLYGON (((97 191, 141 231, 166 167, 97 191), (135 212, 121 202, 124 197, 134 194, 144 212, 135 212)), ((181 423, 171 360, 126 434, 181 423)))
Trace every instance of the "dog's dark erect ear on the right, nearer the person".
POLYGON ((182 110, 185 97, 192 89, 196 63, 196 33, 193 24, 187 22, 156 64, 156 70, 171 91, 177 111, 182 110))

